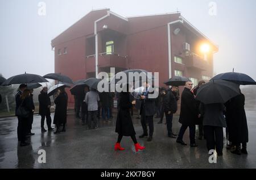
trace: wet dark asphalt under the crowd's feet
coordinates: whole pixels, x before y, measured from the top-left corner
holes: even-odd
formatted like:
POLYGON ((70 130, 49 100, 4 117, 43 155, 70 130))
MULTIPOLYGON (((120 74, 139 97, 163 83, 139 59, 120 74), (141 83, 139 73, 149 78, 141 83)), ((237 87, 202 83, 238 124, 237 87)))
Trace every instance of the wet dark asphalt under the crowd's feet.
MULTIPOLYGON (((223 156, 216 164, 210 164, 204 140, 196 140, 196 148, 189 146, 188 130, 184 135, 187 146, 177 144, 167 137, 166 125, 157 124, 154 119, 154 138, 151 142, 139 139, 142 127, 136 115, 133 116, 137 140, 146 149, 135 152, 130 137, 123 137, 121 145, 125 150, 114 151, 117 140, 115 118, 102 122, 97 129, 86 129, 81 120, 71 112, 68 114, 67 131, 58 135, 41 133, 40 116, 34 117, 31 145, 18 146, 16 118, 0 119, 0 168, 256 168, 256 99, 246 99, 246 115, 249 127, 248 155, 230 153, 224 145, 223 156), (46 151, 46 163, 39 163, 38 151, 46 151)), ((53 114, 52 114, 53 119, 53 114)), ((174 116, 173 131, 178 133, 180 124, 174 116)), ((165 122, 165 120, 164 120, 165 122)), ((198 131, 196 131, 196 137, 198 131)), ((224 139, 224 143, 225 143, 224 139)))

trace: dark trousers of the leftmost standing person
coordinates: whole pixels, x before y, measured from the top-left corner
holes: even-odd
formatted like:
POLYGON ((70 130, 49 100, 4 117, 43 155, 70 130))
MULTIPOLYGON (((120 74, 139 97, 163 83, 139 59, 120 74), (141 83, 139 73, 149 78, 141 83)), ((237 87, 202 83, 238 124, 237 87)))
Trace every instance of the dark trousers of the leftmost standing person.
POLYGON ((28 127, 28 118, 18 117, 17 135, 18 135, 18 141, 21 141, 21 143, 24 143, 26 140, 27 127, 28 127))

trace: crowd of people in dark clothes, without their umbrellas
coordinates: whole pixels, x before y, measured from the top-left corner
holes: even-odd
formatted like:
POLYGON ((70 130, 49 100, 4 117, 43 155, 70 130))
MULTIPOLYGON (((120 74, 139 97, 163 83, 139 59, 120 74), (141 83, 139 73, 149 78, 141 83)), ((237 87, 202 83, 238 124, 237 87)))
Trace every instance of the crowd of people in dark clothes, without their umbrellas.
MULTIPOLYGON (((136 139, 136 133, 133 126, 131 115, 133 115, 133 107, 138 111, 138 117, 141 119, 142 135, 139 138, 147 137, 147 141, 152 141, 154 135, 154 115, 160 118, 158 124, 163 123, 164 115, 166 117, 167 136, 176 139, 176 143, 187 145, 183 141, 183 136, 187 128, 189 128, 190 146, 196 147, 196 125, 199 126, 199 140, 207 141, 208 150, 216 149, 218 156, 222 156, 224 147, 223 130, 226 128, 226 137, 228 149, 234 154, 247 154, 246 144, 248 142, 248 128, 244 109, 245 96, 241 93, 230 99, 225 104, 203 104, 196 101, 195 96, 197 90, 205 82, 200 81, 199 85, 192 90, 193 83, 188 81, 185 83, 184 90, 181 94, 179 123, 181 124, 179 133, 176 135, 172 131, 172 119, 177 111, 179 101, 179 87, 172 86, 170 89, 155 88, 148 82, 144 82, 145 91, 139 94, 138 98, 134 98, 128 92, 131 87, 126 85, 125 91, 118 93, 118 113, 116 120, 115 132, 118 133, 118 140, 115 143, 115 150, 124 150, 120 143, 123 136, 130 136, 134 142, 135 150, 142 150, 136 139), (148 96, 159 90, 157 98, 149 98, 148 96), (149 131, 148 131, 148 129, 149 131)), ((51 100, 47 95, 47 87, 43 87, 39 94, 39 115, 41 115, 42 132, 47 130, 44 128, 44 120, 46 119, 48 131, 53 130, 51 127, 51 100)), ((115 93, 98 93, 97 90, 84 87, 81 95, 75 97, 76 118, 81 118, 82 125, 87 124, 88 129, 98 127, 100 116, 107 122, 113 118, 113 104, 115 93)), ((32 98, 32 90, 28 90, 26 85, 20 85, 16 94, 16 111, 20 106, 25 107, 29 111, 28 116, 18 116, 18 140, 20 145, 28 145, 26 138, 34 135, 31 132, 34 102, 32 98)), ((55 115, 53 124, 55 124, 55 132, 65 132, 67 123, 67 103, 68 95, 64 87, 57 89, 54 95, 55 115), (62 127, 62 129, 61 129, 62 127)))

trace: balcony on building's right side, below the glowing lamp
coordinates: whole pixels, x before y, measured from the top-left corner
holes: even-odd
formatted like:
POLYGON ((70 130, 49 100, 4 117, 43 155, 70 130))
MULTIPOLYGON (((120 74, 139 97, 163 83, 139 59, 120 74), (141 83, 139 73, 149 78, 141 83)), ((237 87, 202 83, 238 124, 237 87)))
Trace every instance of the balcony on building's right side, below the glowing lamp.
POLYGON ((204 60, 203 57, 191 53, 190 55, 185 56, 185 65, 187 68, 207 70, 210 64, 208 61, 204 60))

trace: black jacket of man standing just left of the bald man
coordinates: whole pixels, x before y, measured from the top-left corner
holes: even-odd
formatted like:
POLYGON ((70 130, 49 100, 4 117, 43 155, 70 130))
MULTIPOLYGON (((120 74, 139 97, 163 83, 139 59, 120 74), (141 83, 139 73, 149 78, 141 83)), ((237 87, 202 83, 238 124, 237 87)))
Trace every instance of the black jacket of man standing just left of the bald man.
POLYGON ((177 111, 176 98, 171 90, 168 90, 166 95, 164 95, 163 104, 165 112, 171 111, 174 114, 177 111))

